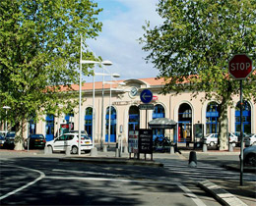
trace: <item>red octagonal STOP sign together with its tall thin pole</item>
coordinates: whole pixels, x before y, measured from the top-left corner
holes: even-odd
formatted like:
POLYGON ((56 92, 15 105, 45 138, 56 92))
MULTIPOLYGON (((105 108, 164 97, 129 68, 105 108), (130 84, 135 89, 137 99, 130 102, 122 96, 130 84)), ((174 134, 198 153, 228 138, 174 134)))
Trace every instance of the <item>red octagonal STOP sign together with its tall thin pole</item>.
POLYGON ((240 79, 240 185, 243 185, 243 127, 242 127, 242 79, 252 73, 252 60, 246 54, 236 54, 228 62, 228 73, 240 79))

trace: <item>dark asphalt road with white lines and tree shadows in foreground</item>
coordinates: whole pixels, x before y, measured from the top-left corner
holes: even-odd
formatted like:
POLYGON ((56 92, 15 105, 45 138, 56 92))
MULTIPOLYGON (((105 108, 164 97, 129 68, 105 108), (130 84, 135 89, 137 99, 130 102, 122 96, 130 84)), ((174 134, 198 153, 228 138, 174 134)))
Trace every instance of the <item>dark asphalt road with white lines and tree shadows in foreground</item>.
POLYGON ((1 204, 220 205, 168 168, 59 162, 59 157, 1 155, 1 204))

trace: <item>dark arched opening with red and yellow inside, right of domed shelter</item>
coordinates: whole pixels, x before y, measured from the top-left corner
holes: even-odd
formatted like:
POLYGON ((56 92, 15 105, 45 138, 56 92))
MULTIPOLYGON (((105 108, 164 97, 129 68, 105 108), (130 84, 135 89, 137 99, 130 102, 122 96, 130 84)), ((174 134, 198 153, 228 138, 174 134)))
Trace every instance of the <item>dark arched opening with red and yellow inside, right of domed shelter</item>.
POLYGON ((183 103, 178 109, 178 142, 192 140, 192 109, 189 104, 183 103))

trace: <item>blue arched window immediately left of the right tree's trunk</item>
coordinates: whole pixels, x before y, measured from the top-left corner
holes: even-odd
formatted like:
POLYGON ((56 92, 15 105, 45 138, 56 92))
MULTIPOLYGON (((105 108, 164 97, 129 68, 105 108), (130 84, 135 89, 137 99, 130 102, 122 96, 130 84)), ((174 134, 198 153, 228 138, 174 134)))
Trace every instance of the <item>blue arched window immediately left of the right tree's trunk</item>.
POLYGON ((206 133, 219 132, 219 104, 217 102, 210 102, 206 109, 206 133))

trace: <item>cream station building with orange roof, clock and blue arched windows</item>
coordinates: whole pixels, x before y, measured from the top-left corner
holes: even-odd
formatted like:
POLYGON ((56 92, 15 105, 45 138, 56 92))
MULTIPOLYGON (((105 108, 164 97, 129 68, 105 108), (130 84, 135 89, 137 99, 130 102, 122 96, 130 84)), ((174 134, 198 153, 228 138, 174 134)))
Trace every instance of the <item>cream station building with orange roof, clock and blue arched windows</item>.
MULTIPOLYGON (((122 135, 123 141, 128 141, 131 131, 146 129, 148 123, 156 118, 168 118, 177 123, 173 129, 154 129, 154 138, 166 136, 174 142, 193 142, 195 137, 194 125, 202 124, 204 134, 217 133, 219 129, 219 102, 215 99, 204 100, 205 93, 201 92, 196 98, 192 98, 192 92, 182 92, 173 95, 174 92, 163 95, 160 90, 163 79, 140 78, 118 80, 113 84, 95 82, 95 142, 116 142, 118 135, 122 135), (122 82, 122 83, 121 83, 122 82), (144 89, 153 92, 154 110, 140 110, 140 93, 144 89), (111 96, 111 98, 110 98, 111 96), (110 136, 108 132, 110 110, 110 136), (110 140, 108 140, 110 138, 110 140)), ((72 85, 79 98, 79 86, 72 85)), ((82 129, 93 135, 93 82, 84 83, 82 86, 82 129)), ((67 94, 68 95, 68 94, 67 94)), ((228 131, 240 130, 239 96, 233 96, 233 104, 228 108, 228 131)), ((256 133, 256 104, 251 100, 244 103, 243 130, 246 133, 256 133)), ((51 140, 58 133, 69 129, 78 130, 79 106, 70 114, 60 116, 45 115, 44 121, 28 123, 28 132, 42 133, 46 140, 51 140)))

